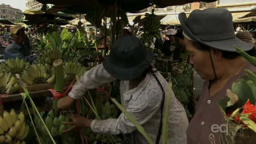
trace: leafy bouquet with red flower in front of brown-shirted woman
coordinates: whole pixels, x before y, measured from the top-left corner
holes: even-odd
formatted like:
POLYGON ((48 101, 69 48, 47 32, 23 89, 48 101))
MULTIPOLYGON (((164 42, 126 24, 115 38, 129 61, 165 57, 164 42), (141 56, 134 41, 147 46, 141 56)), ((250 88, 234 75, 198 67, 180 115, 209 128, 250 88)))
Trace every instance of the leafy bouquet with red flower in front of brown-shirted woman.
MULTIPOLYGON (((236 47, 246 60, 256 66, 256 58, 236 47)), ((247 76, 240 77, 219 101, 226 126, 221 127, 217 140, 221 144, 255 144, 256 139, 256 74, 245 69, 247 76)), ((209 140, 210 140, 209 136, 209 140)))

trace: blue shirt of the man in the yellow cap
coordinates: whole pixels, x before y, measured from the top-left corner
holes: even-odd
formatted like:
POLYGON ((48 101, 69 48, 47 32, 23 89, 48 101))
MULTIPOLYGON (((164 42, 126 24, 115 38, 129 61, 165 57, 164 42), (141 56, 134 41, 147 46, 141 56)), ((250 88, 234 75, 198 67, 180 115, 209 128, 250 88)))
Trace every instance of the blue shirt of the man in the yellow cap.
POLYGON ((36 56, 29 54, 29 49, 26 45, 20 46, 19 44, 13 42, 12 44, 6 46, 4 51, 5 59, 24 59, 26 62, 33 62, 36 56))

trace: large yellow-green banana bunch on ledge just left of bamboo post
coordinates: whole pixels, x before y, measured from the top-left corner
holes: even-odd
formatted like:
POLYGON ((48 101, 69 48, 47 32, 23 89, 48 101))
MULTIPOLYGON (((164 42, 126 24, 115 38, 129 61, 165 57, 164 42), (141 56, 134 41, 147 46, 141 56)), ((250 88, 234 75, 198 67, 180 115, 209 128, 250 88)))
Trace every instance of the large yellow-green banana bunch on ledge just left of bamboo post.
POLYGON ((26 68, 21 74, 21 79, 28 85, 36 83, 54 83, 53 69, 49 64, 33 64, 26 68))

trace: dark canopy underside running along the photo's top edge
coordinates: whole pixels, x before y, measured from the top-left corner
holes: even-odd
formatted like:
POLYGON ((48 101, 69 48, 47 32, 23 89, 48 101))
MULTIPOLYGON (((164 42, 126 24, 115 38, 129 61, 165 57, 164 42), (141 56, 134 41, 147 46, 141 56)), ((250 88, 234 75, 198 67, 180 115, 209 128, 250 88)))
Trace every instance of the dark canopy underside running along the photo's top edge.
MULTIPOLYGON (((69 8, 71 10, 75 10, 75 12, 78 12, 80 10, 85 10, 87 8, 90 8, 91 6, 95 6, 97 4, 107 4, 107 5, 114 5, 115 0, 37 0, 38 2, 42 4, 54 4, 59 6, 69 5, 69 6, 78 6, 77 9, 69 8), (82 9, 80 9, 82 8, 82 9)), ((164 6, 172 6, 172 5, 182 5, 182 4, 188 4, 193 3, 198 0, 152 0, 152 2, 158 6, 164 7, 164 6)), ((216 0, 201 0, 202 2, 214 2, 216 0)), ((134 11, 140 11, 150 6, 148 0, 120 0, 118 1, 121 5, 121 9, 127 11, 127 12, 134 12, 134 11)), ((64 12, 64 11, 62 11, 64 12)), ((82 12, 81 12, 82 13, 82 12)))

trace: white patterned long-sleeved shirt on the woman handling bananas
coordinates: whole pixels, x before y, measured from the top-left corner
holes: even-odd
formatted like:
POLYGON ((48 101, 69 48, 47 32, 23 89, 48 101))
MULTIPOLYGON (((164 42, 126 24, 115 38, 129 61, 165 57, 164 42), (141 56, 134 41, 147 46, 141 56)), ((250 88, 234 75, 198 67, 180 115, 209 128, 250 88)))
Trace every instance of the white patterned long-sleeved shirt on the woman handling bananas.
MULTIPOLYGON (((175 98, 173 91, 169 91, 169 84, 164 77, 159 72, 155 74, 164 88, 165 100, 167 94, 171 93, 167 143, 187 144, 188 118, 185 109, 175 98)), ((80 81, 74 85, 69 96, 73 99, 79 99, 87 89, 93 89, 114 80, 116 79, 103 68, 102 64, 97 65, 84 73, 80 81)), ((152 140, 155 141, 161 120, 160 106, 163 96, 156 79, 151 74, 147 74, 136 88, 131 89, 130 81, 121 81, 120 88, 122 106, 135 117, 136 121, 143 126, 152 140)), ((130 135, 133 136, 134 140, 129 143, 148 144, 148 141, 136 130, 135 125, 123 113, 118 118, 93 120, 91 129, 97 133, 128 134, 133 132, 130 135)), ((162 140, 159 143, 161 144, 162 140)))

